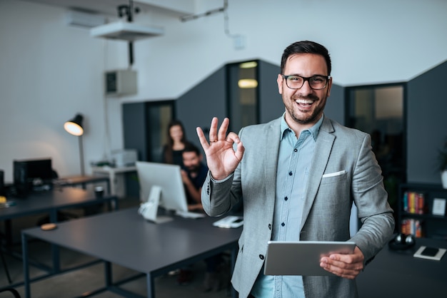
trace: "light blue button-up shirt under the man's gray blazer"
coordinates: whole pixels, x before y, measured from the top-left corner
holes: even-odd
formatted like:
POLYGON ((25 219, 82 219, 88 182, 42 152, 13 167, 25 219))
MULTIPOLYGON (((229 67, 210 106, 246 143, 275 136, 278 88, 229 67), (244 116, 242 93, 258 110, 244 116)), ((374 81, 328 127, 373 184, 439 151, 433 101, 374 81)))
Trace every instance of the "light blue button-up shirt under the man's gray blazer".
MULTIPOLYGON (((296 138, 286 120, 281 120, 281 143, 276 173, 273 241, 299 241, 306 183, 323 117, 296 138)), ((296 264, 299 266, 299 264, 296 264)), ((256 298, 304 297, 303 278, 290 275, 264 275, 261 269, 251 290, 256 298)))

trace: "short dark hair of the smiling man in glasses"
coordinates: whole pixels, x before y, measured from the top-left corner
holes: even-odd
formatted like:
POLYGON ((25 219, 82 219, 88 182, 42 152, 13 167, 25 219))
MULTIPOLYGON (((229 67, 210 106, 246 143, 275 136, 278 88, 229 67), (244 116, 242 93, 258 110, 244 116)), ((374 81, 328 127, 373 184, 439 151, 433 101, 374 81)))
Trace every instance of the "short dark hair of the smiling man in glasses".
POLYGON ((281 73, 284 73, 284 68, 286 68, 286 62, 288 57, 296 53, 315 53, 317 55, 323 56, 326 61, 326 66, 328 67, 328 76, 331 76, 331 57, 329 56, 328 49, 322 46, 320 43, 315 41, 296 41, 288 46, 281 58, 281 73))

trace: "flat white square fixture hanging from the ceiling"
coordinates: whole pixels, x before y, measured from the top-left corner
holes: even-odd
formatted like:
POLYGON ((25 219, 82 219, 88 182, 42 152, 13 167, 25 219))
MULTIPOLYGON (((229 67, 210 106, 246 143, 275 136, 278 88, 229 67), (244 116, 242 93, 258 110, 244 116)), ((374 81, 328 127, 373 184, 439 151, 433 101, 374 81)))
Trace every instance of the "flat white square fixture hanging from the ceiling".
POLYGON ((119 39, 124 41, 136 41, 142 38, 161 36, 164 29, 144 26, 126 21, 96 26, 90 30, 90 35, 99 38, 119 39))

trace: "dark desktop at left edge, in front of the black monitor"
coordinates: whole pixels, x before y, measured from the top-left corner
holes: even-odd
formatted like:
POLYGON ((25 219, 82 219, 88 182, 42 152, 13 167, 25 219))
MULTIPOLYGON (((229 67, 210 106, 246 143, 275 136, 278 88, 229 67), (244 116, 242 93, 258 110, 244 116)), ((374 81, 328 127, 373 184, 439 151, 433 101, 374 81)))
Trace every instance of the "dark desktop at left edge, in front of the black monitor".
MULTIPOLYGON (((9 200, 14 200, 16 205, 1 208, 0 220, 49 212, 49 210, 59 210, 66 207, 76 207, 78 205, 85 206, 98 202, 93 190, 83 190, 75 187, 61 187, 54 190, 31 192, 26 198, 11 197, 9 200)), ((104 196, 102 200, 116 200, 116 197, 104 196)))

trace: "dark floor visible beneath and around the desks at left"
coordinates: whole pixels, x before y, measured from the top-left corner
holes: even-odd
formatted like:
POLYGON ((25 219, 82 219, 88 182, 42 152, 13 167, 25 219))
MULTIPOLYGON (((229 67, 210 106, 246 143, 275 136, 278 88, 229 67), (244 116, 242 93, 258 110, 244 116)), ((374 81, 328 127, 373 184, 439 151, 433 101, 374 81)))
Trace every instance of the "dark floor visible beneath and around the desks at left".
MULTIPOLYGON (((131 207, 135 205, 136 201, 121 200, 120 208, 131 207), (127 201, 127 202, 126 202, 127 201)), ((81 212, 81 211, 79 211, 81 212)), ((76 210, 74 212, 76 215, 76 210)), ((78 213, 79 214, 79 213, 78 213)), ((29 217, 26 220, 16 219, 13 221, 13 233, 14 233, 14 245, 13 251, 19 255, 21 253, 20 245, 20 230, 27 227, 34 227, 35 223, 40 220, 42 215, 36 217, 29 217)), ((1 227, 3 229, 3 227, 1 227)), ((50 264, 51 255, 50 247, 48 244, 40 241, 31 242, 29 245, 30 256, 34 260, 39 260, 44 264, 50 264)), ((24 280, 23 277, 23 264, 19 257, 4 252, 6 258, 6 264, 9 269, 9 274, 13 283, 21 283, 24 280)), ((78 252, 71 250, 61 249, 61 267, 62 269, 71 268, 80 264, 86 264, 88 262, 96 261, 92 257, 82 255, 78 252)), ((194 297, 194 298, 223 298, 230 297, 231 293, 228 287, 223 287, 220 290, 211 290, 206 292, 203 286, 205 263, 204 261, 197 262, 192 265, 191 269, 193 273, 193 279, 191 283, 187 285, 179 285, 177 279, 178 274, 166 274, 164 276, 156 278, 155 292, 157 298, 171 298, 171 297, 194 297)), ((116 264, 112 267, 114 281, 134 277, 138 272, 134 272, 130 269, 120 267, 116 264)), ((44 271, 37 267, 31 267, 31 278, 39 277, 44 274, 44 271)), ((224 277, 224 283, 229 283, 229 272, 224 277)), ((0 288, 6 287, 8 280, 4 272, 3 263, 0 260, 0 288)), ((31 295, 33 298, 64 298, 64 297, 83 297, 95 289, 99 289, 104 286, 104 265, 102 263, 96 263, 83 269, 69 271, 63 274, 41 279, 31 284, 31 295)), ((146 296, 146 278, 139 277, 122 284, 123 289, 129 290, 136 294, 146 296)), ((15 287, 22 297, 24 297, 23 284, 15 287)), ((11 297, 11 294, 0 294, 0 298, 11 297)), ((92 297, 96 298, 114 298, 114 297, 126 297, 112 292, 102 292, 95 294, 92 297)))

